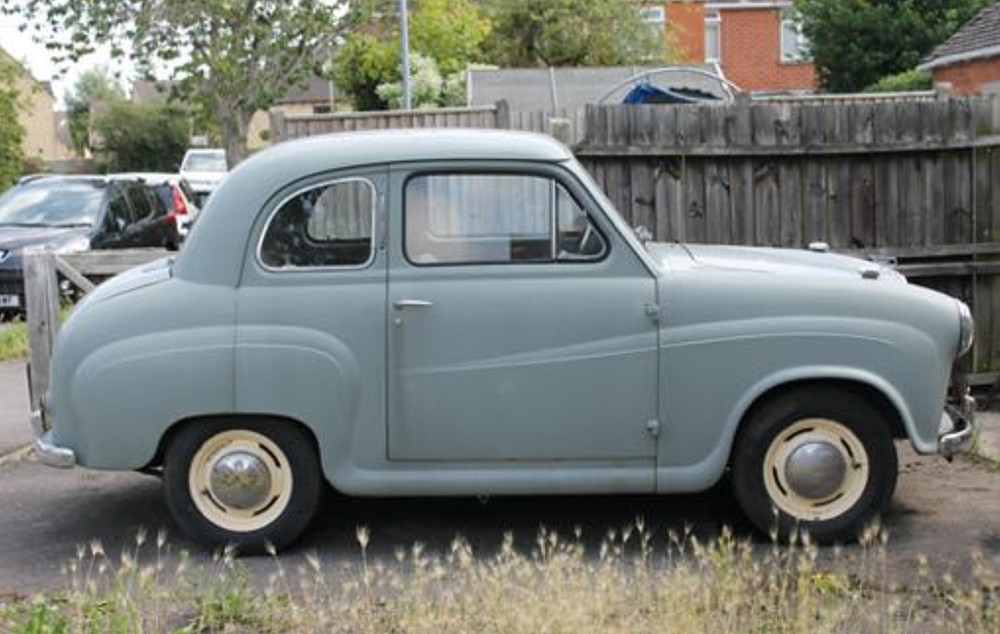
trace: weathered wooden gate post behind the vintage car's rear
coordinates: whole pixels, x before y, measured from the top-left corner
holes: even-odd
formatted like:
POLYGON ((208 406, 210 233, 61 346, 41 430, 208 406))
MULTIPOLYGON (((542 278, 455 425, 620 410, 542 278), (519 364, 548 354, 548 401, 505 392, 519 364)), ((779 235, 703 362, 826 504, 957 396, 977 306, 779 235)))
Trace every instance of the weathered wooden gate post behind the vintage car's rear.
POLYGON ((59 282, 55 254, 29 248, 24 254, 25 312, 28 316, 28 394, 31 409, 41 404, 49 387, 52 346, 59 332, 59 282))

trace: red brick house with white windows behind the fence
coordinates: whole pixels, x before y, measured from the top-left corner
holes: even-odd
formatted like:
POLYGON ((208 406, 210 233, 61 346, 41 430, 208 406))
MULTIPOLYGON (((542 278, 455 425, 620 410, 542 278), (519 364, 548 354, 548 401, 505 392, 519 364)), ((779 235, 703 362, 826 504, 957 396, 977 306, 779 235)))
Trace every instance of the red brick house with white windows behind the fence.
POLYGON ((816 70, 792 0, 672 0, 650 5, 679 64, 717 63, 754 92, 813 91, 816 70))

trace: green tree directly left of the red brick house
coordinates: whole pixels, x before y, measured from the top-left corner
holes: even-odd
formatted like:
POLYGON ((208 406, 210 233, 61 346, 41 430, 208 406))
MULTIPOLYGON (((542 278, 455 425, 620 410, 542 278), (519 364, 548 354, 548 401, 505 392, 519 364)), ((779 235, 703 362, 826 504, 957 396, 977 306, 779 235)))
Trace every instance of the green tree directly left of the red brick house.
POLYGON ((502 66, 614 66, 663 59, 662 31, 644 22, 644 0, 499 0, 486 43, 502 66))

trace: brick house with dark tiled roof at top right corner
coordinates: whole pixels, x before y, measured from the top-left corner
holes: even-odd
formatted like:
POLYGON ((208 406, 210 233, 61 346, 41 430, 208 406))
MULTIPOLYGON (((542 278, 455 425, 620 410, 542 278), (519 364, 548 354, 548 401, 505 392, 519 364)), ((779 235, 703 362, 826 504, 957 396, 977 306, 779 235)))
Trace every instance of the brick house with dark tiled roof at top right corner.
POLYGON ((1000 94, 1000 2, 976 14, 917 68, 961 95, 1000 94))

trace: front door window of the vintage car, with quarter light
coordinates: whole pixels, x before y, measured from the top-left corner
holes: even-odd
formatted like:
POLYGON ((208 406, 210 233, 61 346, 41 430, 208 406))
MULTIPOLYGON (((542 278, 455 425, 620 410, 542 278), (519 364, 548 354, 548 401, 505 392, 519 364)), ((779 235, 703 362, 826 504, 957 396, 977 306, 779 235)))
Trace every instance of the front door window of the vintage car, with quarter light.
POLYGON ((415 264, 592 261, 607 251, 583 207, 546 176, 414 176, 404 223, 415 264))

